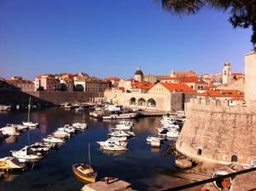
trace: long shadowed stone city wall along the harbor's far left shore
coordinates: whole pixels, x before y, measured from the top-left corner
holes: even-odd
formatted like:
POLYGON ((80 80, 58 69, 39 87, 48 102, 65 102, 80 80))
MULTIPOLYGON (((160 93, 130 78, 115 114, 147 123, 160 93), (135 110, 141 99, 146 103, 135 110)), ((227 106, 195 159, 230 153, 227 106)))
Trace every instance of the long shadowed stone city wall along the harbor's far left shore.
POLYGON ((18 104, 27 103, 29 96, 33 102, 61 103, 61 102, 86 102, 94 101, 96 97, 103 97, 103 92, 79 92, 79 91, 6 91, 0 92, 0 103, 18 104))

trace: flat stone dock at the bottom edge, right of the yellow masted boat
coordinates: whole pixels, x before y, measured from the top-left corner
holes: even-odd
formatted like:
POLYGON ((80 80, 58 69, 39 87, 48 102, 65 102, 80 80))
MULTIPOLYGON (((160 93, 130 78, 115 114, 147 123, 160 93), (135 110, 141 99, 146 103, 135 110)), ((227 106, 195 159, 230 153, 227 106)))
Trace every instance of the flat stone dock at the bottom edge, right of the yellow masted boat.
POLYGON ((81 191, 102 191, 102 190, 125 191, 125 190, 131 190, 129 188, 130 186, 131 186, 131 183, 125 182, 123 180, 119 180, 118 178, 114 178, 113 180, 109 180, 105 182, 99 181, 95 183, 86 184, 81 189, 81 191))

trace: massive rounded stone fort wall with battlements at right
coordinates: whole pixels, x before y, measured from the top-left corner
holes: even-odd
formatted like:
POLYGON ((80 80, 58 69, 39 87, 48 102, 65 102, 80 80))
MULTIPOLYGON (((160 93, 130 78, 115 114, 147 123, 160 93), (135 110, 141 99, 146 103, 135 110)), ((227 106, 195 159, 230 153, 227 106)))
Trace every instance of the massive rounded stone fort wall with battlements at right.
POLYGON ((185 113, 176 143, 180 153, 220 164, 230 164, 232 156, 241 165, 256 159, 256 105, 229 107, 228 101, 193 98, 185 113))

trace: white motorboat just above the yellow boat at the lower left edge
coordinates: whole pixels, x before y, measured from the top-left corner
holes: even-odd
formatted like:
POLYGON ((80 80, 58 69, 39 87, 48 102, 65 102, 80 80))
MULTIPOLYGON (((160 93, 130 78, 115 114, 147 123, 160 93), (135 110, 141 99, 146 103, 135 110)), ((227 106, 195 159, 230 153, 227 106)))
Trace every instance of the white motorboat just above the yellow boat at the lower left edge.
POLYGON ((10 151, 12 155, 19 159, 20 162, 36 162, 44 158, 44 155, 40 152, 32 152, 32 150, 26 146, 19 151, 10 151))

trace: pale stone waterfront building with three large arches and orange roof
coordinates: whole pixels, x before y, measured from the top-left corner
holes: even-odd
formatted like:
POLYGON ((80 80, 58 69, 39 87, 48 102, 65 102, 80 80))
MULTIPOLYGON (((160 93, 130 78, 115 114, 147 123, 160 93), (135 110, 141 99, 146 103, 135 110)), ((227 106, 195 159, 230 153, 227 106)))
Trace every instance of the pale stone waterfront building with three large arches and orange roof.
POLYGON ((105 90, 104 97, 125 107, 175 112, 183 109, 184 103, 195 96, 195 90, 186 84, 136 84, 126 91, 105 90))

